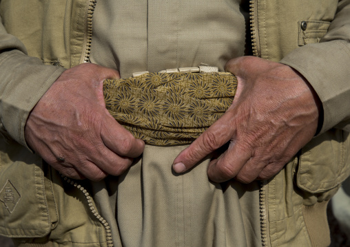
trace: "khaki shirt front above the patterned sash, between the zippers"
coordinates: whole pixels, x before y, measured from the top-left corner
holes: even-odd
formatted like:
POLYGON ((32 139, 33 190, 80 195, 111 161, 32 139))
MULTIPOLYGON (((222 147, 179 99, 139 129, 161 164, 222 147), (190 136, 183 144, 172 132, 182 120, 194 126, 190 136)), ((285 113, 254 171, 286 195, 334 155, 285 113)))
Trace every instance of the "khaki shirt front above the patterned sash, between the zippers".
POLYGON ((90 61, 122 78, 200 63, 223 71, 230 58, 245 55, 245 2, 98 1, 90 61))

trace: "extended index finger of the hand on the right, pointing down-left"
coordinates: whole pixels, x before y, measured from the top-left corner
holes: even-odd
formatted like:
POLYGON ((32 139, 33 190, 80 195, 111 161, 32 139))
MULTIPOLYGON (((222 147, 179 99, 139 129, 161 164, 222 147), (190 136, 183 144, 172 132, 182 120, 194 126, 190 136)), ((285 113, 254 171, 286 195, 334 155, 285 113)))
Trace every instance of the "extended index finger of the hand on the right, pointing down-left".
POLYGON ((222 147, 234 136, 234 129, 229 125, 231 122, 229 115, 224 114, 194 140, 189 147, 178 154, 172 165, 176 173, 183 173, 194 167, 205 156, 222 147))

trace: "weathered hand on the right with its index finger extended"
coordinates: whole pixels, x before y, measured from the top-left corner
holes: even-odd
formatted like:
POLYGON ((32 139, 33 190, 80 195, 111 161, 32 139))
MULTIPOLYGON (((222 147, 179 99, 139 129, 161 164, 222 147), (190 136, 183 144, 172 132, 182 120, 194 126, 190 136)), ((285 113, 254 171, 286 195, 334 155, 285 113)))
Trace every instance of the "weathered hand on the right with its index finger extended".
POLYGON ((238 78, 234 102, 176 157, 173 169, 187 171, 229 142, 225 153, 209 164, 211 180, 271 178, 316 133, 318 96, 305 78, 280 63, 245 56, 231 59, 226 70, 238 78))

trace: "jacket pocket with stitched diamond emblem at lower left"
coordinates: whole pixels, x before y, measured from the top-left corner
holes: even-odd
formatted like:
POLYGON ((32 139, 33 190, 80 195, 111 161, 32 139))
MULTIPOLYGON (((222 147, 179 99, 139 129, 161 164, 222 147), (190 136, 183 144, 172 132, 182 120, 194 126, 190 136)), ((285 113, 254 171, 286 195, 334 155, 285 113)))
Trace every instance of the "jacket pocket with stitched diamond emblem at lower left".
POLYGON ((0 234, 43 237, 51 228, 41 158, 0 135, 0 234))

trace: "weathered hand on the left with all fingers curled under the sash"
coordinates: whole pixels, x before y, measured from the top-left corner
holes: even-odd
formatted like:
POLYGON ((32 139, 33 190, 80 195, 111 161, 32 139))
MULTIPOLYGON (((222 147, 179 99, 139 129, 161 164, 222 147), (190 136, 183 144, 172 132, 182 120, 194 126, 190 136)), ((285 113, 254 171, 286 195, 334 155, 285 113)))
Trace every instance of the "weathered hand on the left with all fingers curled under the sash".
POLYGON ((105 109, 104 78, 119 78, 119 72, 88 63, 67 69, 25 125, 28 145, 70 178, 101 180, 107 174, 120 175, 143 152, 144 142, 105 109))

